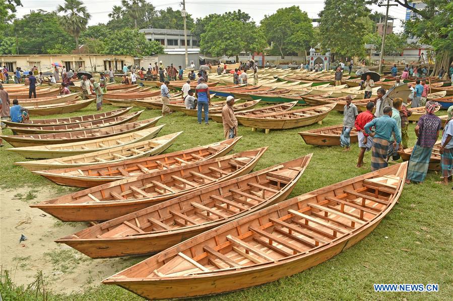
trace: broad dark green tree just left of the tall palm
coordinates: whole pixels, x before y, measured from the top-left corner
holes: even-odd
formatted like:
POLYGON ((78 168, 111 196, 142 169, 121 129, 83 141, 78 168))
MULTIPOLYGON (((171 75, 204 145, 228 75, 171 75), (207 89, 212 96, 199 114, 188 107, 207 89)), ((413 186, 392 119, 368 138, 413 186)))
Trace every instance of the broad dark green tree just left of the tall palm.
POLYGON ((58 21, 54 12, 42 10, 31 11, 23 18, 14 20, 19 54, 55 53, 52 51, 55 49, 60 49, 59 53, 70 53, 74 49, 75 40, 58 21))

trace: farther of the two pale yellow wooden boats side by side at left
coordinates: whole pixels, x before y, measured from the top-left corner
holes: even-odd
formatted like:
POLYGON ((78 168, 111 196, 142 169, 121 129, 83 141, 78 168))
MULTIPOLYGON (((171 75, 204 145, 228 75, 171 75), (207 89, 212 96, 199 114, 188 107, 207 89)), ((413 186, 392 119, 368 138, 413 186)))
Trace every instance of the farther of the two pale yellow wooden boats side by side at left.
POLYGON ((18 153, 28 159, 53 159, 75 156, 152 139, 159 133, 163 126, 164 125, 159 125, 141 131, 88 141, 29 147, 11 147, 7 148, 7 150, 18 153))

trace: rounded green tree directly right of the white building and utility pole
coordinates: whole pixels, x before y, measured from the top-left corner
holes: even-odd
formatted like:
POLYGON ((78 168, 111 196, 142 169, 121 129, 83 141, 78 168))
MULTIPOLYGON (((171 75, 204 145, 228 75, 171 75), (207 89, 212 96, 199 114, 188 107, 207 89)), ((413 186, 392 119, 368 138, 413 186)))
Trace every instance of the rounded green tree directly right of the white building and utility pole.
POLYGON ((262 30, 234 12, 212 18, 201 34, 200 48, 214 56, 235 56, 241 51, 261 52, 266 47, 262 30))

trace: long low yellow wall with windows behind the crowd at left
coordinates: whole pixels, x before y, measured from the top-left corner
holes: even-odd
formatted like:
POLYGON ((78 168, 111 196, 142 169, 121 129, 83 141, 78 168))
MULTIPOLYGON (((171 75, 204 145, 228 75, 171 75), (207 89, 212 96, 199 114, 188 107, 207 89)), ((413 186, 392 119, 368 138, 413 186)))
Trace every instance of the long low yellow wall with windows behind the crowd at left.
MULTIPOLYGON (((24 55, 3 55, 0 56, 0 63, 5 65, 11 63, 13 69, 21 67, 23 71, 29 70, 36 65, 40 71, 50 71, 53 62, 68 65, 71 68, 78 69, 79 65, 85 71, 104 71, 108 70, 108 61, 111 66, 117 70, 122 68, 122 63, 132 65, 134 58, 128 55, 101 55, 101 54, 24 54, 24 55)), ((11 65, 10 64, 10 65, 11 65)), ((10 70, 12 71, 12 70, 10 70)))

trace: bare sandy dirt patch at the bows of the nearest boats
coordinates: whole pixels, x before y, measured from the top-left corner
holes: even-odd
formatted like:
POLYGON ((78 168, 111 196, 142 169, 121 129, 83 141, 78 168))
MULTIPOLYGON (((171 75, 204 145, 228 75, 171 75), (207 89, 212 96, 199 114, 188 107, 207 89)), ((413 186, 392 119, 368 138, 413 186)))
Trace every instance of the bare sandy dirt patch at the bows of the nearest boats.
POLYGON ((14 282, 29 284, 42 271, 48 290, 83 291, 125 267, 131 259, 91 259, 54 240, 89 226, 63 223, 28 205, 62 195, 50 188, 0 190, 0 265, 14 282), (21 236, 27 239, 19 243, 21 236), (51 283, 51 284, 50 284, 51 283))

